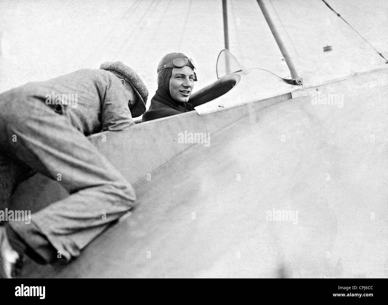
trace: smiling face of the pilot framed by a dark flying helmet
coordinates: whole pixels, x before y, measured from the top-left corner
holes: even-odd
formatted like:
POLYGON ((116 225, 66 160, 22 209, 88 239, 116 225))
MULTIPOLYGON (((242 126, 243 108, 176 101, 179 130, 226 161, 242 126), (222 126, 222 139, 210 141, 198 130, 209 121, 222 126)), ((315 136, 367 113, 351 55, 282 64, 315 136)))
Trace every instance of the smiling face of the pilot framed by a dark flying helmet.
POLYGON ((184 66, 173 68, 170 78, 171 97, 178 102, 188 102, 194 88, 194 70, 184 66))

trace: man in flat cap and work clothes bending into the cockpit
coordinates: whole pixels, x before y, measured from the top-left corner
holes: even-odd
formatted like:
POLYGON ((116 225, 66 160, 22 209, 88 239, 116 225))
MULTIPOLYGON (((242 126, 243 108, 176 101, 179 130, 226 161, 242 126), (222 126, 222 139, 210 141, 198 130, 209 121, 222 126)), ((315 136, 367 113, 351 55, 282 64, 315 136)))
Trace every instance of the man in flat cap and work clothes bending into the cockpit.
POLYGON ((132 185, 86 136, 129 128, 147 96, 137 73, 121 62, 0 94, 0 210, 31 170, 55 180, 60 174, 70 194, 33 213, 29 224, 0 222, 0 277, 20 276, 24 255, 38 263, 71 260, 132 208, 132 185), (77 96, 76 103, 62 104, 65 95, 77 96))

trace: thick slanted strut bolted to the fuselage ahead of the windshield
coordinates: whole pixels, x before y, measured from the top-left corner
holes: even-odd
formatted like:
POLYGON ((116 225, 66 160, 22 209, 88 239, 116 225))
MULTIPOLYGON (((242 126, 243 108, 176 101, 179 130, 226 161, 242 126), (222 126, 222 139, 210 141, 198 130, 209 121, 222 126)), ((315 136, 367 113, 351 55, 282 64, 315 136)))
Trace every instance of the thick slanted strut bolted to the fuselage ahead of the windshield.
POLYGON ((277 31, 277 29, 275 28, 275 25, 274 23, 272 22, 272 19, 271 17, 269 16, 269 13, 268 13, 268 10, 267 8, 265 7, 265 4, 263 3, 263 0, 256 0, 260 9, 262 10, 262 13, 264 15, 264 18, 265 18, 265 21, 267 21, 267 24, 272 32, 272 35, 274 35, 274 38, 276 40, 276 43, 277 43, 277 46, 279 47, 280 49, 280 52, 282 52, 282 55, 284 57, 284 59, 286 60, 286 64, 291 72, 291 78, 292 78, 292 81, 295 85, 302 85, 303 83, 303 78, 301 78, 300 76, 298 76, 298 73, 296 72, 296 68, 294 66, 294 63, 291 59, 291 56, 289 55, 287 49, 286 49, 286 46, 284 45, 284 42, 282 40, 282 38, 280 37, 279 35, 279 32, 277 31))

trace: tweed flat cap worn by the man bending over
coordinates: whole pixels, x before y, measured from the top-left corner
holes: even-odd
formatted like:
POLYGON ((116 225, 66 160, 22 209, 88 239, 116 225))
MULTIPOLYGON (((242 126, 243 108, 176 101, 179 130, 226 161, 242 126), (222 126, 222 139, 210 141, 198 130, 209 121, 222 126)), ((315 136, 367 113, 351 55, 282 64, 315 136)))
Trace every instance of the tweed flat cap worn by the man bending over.
POLYGON ((141 116, 145 112, 148 90, 135 70, 126 66, 121 61, 104 62, 101 64, 100 69, 113 73, 117 77, 127 81, 132 86, 138 96, 138 99, 136 104, 132 107, 132 109, 130 109, 131 114, 133 118, 141 116))

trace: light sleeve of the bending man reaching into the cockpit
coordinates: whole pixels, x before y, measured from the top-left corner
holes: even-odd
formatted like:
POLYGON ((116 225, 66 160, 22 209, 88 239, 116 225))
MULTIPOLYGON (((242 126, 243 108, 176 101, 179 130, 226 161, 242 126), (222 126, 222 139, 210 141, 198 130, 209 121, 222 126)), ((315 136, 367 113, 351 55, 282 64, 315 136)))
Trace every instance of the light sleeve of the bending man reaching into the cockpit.
POLYGON ((135 124, 118 77, 101 70, 96 77, 96 85, 101 100, 102 130, 118 131, 135 124))

